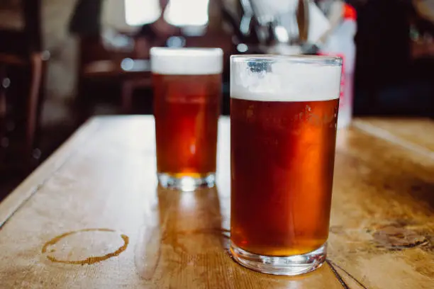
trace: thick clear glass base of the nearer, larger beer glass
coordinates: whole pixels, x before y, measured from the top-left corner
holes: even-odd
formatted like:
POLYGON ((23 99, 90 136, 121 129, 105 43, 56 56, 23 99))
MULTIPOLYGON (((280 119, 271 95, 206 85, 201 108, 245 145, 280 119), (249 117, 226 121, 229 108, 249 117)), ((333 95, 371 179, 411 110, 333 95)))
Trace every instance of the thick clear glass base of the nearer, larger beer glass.
POLYGON ((303 255, 276 257, 252 254, 230 242, 230 254, 235 261, 253 271, 295 276, 308 273, 323 265, 327 254, 327 243, 303 255))

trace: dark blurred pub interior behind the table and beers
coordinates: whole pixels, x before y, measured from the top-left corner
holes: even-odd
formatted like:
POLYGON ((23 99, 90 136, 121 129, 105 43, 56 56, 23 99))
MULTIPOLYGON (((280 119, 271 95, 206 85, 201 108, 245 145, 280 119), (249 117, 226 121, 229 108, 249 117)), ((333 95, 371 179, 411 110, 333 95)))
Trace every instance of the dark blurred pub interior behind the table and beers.
POLYGON ((221 47, 226 115, 230 55, 274 53, 342 56, 348 121, 432 118, 433 33, 434 0, 0 0, 0 200, 91 115, 152 114, 150 47, 221 47))

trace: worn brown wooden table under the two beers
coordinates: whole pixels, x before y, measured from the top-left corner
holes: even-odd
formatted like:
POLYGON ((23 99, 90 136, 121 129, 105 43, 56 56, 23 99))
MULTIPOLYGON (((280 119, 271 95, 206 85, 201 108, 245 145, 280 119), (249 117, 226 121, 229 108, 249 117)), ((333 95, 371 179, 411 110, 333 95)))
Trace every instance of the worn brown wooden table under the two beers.
POLYGON ((153 126, 90 120, 0 203, 0 288, 434 288, 430 120, 339 132, 328 262, 295 278, 228 255, 228 118, 195 193, 157 188, 153 126))

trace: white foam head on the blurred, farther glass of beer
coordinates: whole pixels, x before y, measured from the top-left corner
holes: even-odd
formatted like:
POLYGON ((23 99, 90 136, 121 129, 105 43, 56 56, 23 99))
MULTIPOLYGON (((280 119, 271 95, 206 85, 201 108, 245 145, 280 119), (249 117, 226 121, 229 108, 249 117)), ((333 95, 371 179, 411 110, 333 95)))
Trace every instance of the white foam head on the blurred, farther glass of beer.
POLYGON ((220 48, 152 47, 151 71, 155 74, 202 75, 223 71, 223 50, 220 48))

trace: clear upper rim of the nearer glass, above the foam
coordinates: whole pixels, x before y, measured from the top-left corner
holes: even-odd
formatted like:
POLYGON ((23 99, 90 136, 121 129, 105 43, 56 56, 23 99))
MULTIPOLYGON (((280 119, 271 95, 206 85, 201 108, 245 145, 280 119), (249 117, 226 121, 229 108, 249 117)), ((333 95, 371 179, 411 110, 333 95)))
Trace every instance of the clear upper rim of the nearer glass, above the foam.
POLYGON ((231 55, 230 62, 288 62, 342 66, 339 56, 326 55, 231 55))

